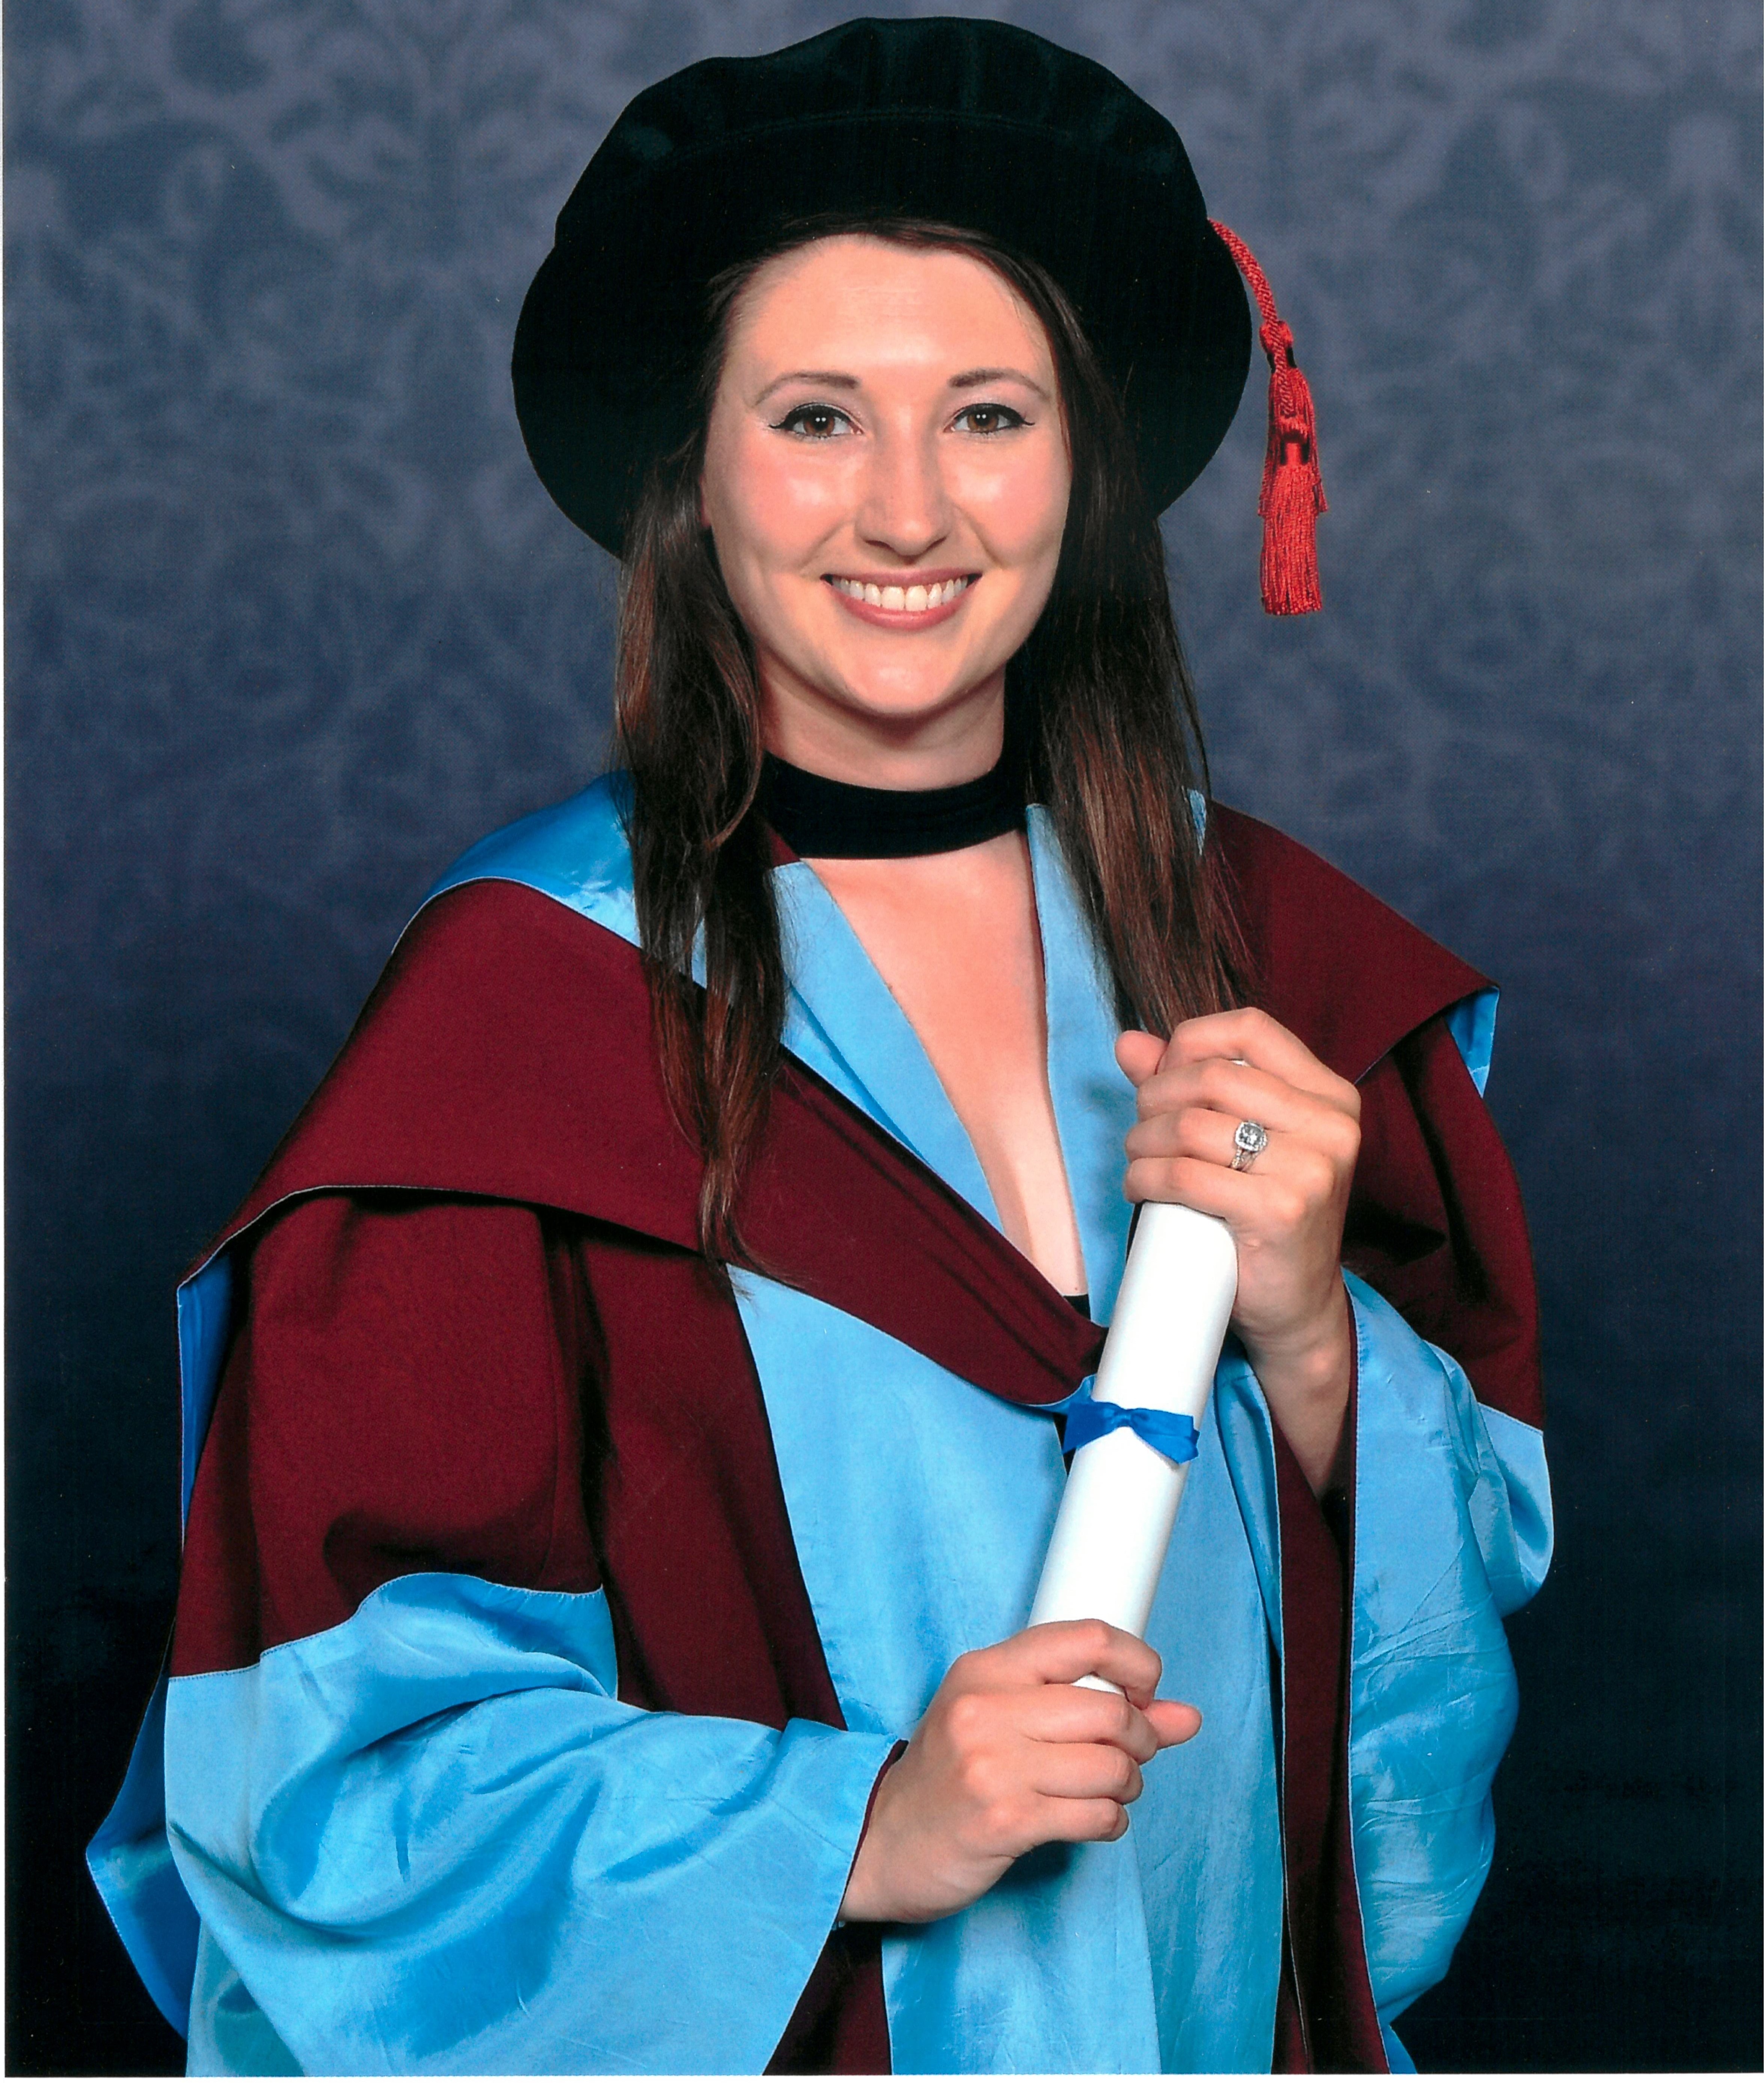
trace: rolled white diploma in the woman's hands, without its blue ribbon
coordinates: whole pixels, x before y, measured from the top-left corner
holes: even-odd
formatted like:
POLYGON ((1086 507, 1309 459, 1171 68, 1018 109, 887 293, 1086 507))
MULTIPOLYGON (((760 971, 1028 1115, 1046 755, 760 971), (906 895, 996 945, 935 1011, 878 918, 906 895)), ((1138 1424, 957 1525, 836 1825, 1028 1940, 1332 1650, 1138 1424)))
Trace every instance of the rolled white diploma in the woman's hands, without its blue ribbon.
MULTIPOLYGON (((1200 1431, 1235 1300, 1237 1246, 1225 1223, 1173 1202, 1145 1202, 1102 1348, 1095 1400, 1177 1410, 1200 1431)), ((1108 1621, 1143 1635, 1187 1475, 1187 1462, 1164 1460, 1125 1425, 1079 1448, 1029 1625, 1108 1621)))

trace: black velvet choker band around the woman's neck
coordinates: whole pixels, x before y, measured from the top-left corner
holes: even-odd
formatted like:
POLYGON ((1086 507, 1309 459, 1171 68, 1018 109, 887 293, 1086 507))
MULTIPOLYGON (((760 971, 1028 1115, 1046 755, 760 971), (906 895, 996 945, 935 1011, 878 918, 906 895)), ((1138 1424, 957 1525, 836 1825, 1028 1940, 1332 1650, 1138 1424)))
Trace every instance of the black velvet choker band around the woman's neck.
POLYGON ((1006 752, 991 773, 954 787, 858 787, 768 752, 760 767, 760 814, 808 860, 954 854, 1002 831, 1023 831, 1023 773, 1006 752))

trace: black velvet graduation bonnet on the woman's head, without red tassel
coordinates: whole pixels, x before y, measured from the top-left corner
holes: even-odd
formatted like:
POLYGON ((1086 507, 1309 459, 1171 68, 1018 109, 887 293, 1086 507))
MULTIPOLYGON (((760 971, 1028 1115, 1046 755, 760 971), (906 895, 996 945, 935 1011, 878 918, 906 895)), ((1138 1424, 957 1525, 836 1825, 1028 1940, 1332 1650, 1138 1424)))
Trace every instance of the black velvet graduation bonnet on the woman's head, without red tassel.
POLYGON ((691 429, 706 285, 827 212, 933 219, 1039 260, 1123 398, 1158 510, 1225 437, 1250 312, 1164 117, 1027 29, 848 21, 646 87, 558 215, 514 404, 546 490, 614 556, 648 462, 691 429))

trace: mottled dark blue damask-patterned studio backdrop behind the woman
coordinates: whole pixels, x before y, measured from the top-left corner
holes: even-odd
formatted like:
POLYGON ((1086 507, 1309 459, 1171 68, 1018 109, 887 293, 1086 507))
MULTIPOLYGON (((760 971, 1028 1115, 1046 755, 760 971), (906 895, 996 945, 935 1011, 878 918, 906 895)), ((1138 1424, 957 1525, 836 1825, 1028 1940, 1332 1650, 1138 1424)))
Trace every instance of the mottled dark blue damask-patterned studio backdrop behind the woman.
MULTIPOLYGON (((177 1548, 171 1285, 429 877, 596 773, 610 567, 508 342, 619 106, 829 0, 6 10, 10 2043, 177 2064, 79 1843, 177 1548)), ((933 12, 933 8, 885 8, 933 12)), ((993 6, 1120 71, 1318 394, 1168 525, 1220 794, 1506 985, 1562 1508, 1425 2066, 1756 2066, 1754 0, 993 6)))

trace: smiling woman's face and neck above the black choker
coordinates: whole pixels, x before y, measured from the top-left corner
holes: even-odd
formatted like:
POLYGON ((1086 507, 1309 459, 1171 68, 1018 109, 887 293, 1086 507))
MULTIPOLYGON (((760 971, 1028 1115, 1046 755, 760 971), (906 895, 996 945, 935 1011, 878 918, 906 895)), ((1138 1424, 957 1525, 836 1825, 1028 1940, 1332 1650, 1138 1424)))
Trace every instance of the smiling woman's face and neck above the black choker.
POLYGON ((846 781, 983 773, 1070 481, 1048 337, 989 267, 873 237, 766 262, 702 485, 766 744, 846 781))

